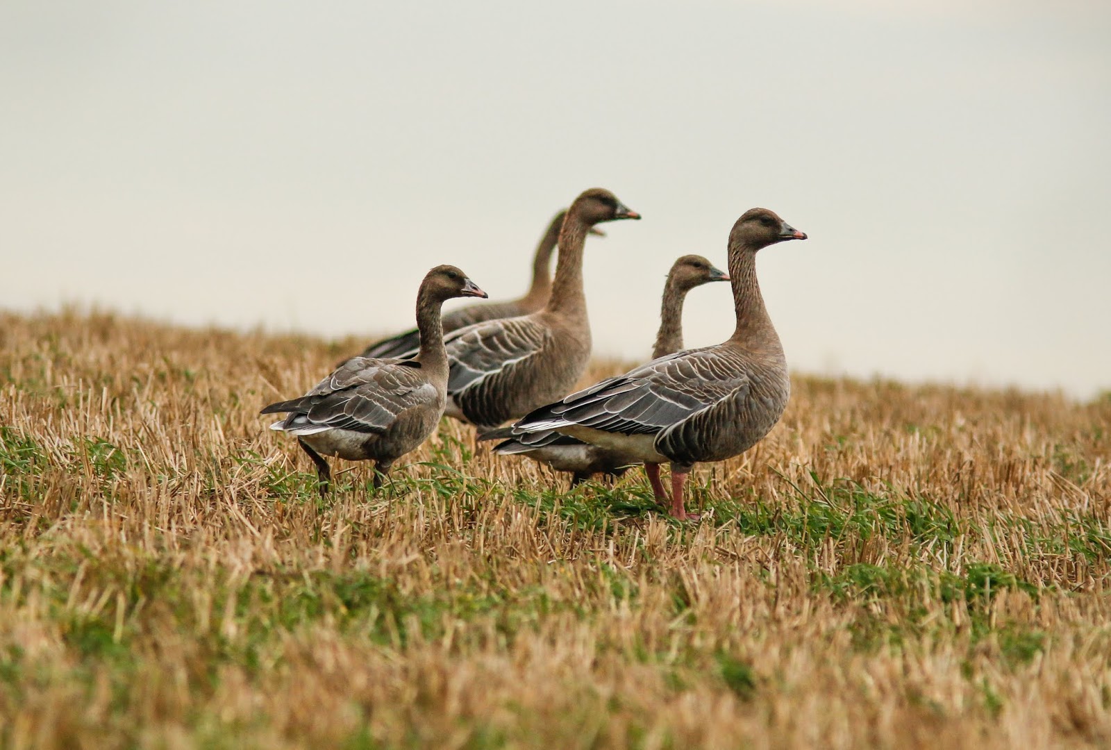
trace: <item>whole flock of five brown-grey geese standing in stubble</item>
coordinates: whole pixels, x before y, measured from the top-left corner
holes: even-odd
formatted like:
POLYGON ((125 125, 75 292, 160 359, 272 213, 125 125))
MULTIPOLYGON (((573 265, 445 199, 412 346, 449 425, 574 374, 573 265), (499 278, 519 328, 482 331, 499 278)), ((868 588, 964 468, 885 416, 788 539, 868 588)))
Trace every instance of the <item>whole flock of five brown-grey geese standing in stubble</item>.
POLYGON ((301 398, 262 413, 286 414, 271 429, 297 436, 322 494, 331 479, 326 456, 373 461, 379 488, 447 414, 473 424, 480 440, 501 440, 497 454, 523 454, 570 472, 572 487, 643 464, 657 502, 679 520, 697 519, 687 512, 683 490, 694 464, 743 453, 787 407, 787 360, 760 294, 755 254, 807 236, 773 211, 745 211, 729 233, 728 273, 701 256, 671 267, 651 361, 570 393, 591 351, 582 286, 587 237, 602 234, 597 224, 622 219, 640 214, 609 190, 582 192, 552 219, 534 253, 532 284, 518 300, 442 316, 448 299, 487 294, 460 269, 433 268, 417 293, 416 329, 370 344, 301 398), (684 350, 683 300, 711 281, 732 286, 733 334, 684 350), (662 463, 671 469, 670 492, 662 463))

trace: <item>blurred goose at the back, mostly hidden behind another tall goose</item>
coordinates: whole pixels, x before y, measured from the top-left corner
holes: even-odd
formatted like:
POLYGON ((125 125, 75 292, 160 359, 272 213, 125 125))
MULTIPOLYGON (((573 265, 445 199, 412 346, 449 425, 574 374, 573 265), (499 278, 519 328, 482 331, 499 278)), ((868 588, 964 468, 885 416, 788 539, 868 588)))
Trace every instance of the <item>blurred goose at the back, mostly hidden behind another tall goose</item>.
MULTIPOLYGON (((503 302, 480 302, 468 304, 464 308, 453 310, 442 318, 443 332, 451 333, 454 330, 481 323, 486 320, 497 320, 498 318, 516 318, 536 312, 544 307, 552 292, 551 256, 559 241, 559 230, 563 226, 563 217, 567 209, 552 217, 548 224, 548 230, 540 238, 537 251, 532 257, 532 284, 524 297, 503 302)), ((605 232, 600 229, 590 228, 589 233, 605 237, 605 232)), ((392 336, 367 347, 362 357, 399 357, 409 351, 416 350, 420 346, 419 331, 412 328, 397 336, 392 336)))

